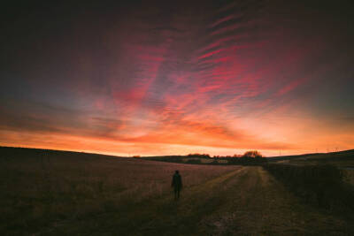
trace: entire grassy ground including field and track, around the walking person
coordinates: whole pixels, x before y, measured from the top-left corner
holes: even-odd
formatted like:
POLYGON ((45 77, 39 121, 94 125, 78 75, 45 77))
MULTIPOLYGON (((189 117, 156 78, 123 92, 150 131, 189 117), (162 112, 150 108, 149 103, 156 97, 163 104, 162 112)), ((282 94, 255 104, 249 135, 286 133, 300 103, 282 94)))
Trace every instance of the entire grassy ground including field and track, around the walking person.
POLYGON ((260 166, 0 148, 1 235, 354 234, 260 166), (174 170, 183 179, 173 201, 174 170))

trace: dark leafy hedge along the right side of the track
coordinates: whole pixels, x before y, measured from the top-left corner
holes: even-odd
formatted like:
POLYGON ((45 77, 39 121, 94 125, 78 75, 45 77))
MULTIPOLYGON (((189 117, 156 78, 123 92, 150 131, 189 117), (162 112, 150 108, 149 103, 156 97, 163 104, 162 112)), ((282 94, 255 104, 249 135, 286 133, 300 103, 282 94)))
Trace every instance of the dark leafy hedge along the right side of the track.
POLYGON ((354 211, 354 193, 342 181, 342 171, 334 165, 267 164, 273 176, 305 202, 325 209, 354 211))

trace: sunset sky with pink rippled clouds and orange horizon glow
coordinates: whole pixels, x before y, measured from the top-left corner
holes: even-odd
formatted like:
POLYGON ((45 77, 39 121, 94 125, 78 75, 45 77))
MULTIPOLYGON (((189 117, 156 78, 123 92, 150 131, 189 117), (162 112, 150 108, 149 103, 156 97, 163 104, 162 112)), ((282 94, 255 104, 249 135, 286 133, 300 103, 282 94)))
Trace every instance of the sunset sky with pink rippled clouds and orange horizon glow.
POLYGON ((1 146, 354 148, 350 1, 56 2, 1 10, 1 146))

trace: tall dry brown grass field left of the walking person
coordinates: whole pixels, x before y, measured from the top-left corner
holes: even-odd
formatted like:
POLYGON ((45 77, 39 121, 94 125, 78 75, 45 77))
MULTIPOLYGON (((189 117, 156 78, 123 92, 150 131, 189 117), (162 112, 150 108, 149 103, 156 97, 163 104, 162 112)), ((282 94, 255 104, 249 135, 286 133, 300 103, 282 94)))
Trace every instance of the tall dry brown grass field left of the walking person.
POLYGON ((70 152, 3 151, 0 232, 37 232, 63 220, 119 210, 171 194, 175 170, 181 171, 188 188, 235 168, 70 152))

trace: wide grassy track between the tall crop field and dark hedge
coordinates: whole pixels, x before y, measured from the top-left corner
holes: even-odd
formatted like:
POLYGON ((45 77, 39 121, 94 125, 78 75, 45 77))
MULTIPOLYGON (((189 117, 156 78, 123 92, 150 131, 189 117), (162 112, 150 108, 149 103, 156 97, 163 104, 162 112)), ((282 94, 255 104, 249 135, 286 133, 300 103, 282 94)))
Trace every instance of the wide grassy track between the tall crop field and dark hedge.
MULTIPOLYGON (((65 225, 69 234, 348 235, 344 221, 304 205, 261 167, 242 167, 159 199, 65 225)), ((51 234, 59 235, 60 228, 51 234)))

